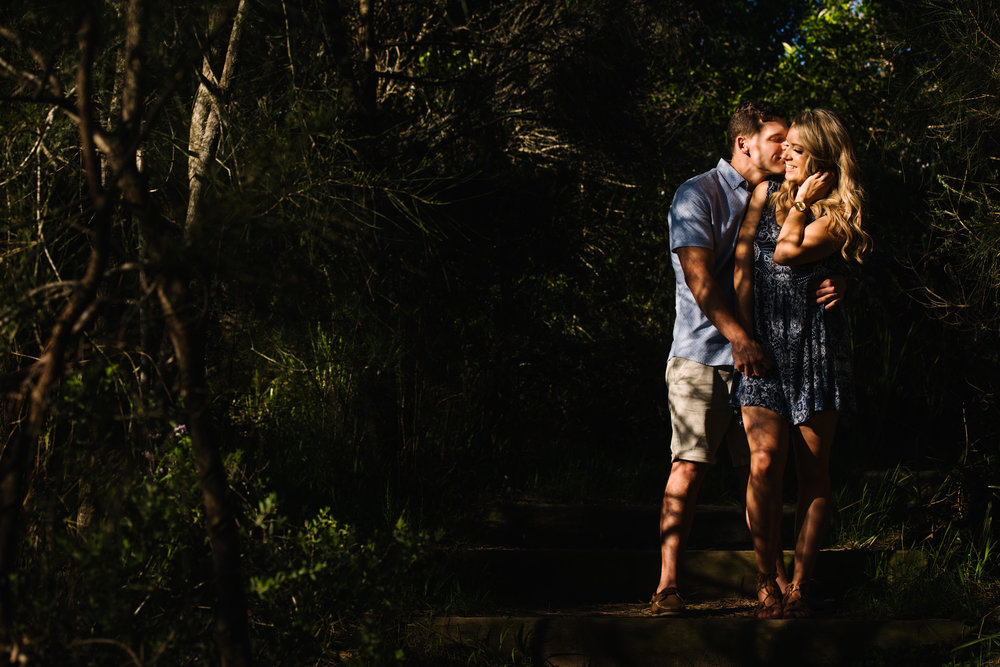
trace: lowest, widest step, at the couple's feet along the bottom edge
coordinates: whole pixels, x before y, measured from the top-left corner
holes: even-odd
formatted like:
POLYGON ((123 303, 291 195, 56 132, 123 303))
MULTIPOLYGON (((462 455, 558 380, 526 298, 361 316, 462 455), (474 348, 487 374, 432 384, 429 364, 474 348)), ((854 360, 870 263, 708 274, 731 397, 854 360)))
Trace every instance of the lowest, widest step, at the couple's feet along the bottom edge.
MULTIPOLYGON (((912 664, 970 635, 960 621, 741 616, 657 618, 633 613, 446 617, 421 632, 477 652, 554 667, 912 664), (900 656, 911 659, 901 661, 900 656)), ((926 660, 919 664, 931 664, 926 660)))

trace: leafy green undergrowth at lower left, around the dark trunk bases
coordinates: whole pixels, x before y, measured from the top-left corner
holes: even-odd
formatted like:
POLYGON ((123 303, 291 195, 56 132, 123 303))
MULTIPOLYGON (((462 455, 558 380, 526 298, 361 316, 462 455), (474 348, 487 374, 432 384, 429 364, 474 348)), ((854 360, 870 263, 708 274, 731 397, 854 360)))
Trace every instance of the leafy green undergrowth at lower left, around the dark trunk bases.
MULTIPOLYGON (((77 428, 74 446, 44 447, 25 505, 14 582, 21 654, 29 664, 217 663, 211 553, 190 438, 169 418, 115 420, 118 373, 81 372, 57 405, 49 441, 65 438, 67 424, 77 428)), ((295 417, 300 430, 261 449, 280 456, 280 442, 314 461, 312 469, 274 476, 260 450, 230 448, 225 458, 255 661, 431 664, 420 657, 427 642, 414 641, 409 624, 447 609, 453 595, 440 531, 411 521, 401 502, 335 504, 340 495, 324 494, 324 479, 345 494, 364 480, 348 484, 351 469, 328 465, 320 451, 336 443, 315 437, 307 413, 295 417), (309 437, 296 442, 296 433, 309 437), (283 504, 288 489, 292 511, 283 504)))

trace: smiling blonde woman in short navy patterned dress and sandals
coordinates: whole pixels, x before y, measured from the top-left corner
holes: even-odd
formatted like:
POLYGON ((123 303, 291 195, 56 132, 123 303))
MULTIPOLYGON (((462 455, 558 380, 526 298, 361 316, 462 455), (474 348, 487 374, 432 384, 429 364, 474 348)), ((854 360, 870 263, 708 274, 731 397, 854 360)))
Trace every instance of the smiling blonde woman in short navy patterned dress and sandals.
POLYGON ((738 368, 734 402, 750 443, 747 512, 757 563, 758 618, 811 615, 803 586, 826 530, 830 448, 841 411, 853 407, 847 327, 840 308, 811 298, 810 284, 845 273, 870 239, 861 229, 862 191, 850 137, 824 109, 792 122, 785 181, 753 193, 740 229, 734 276, 737 313, 774 367, 738 368), (784 595, 780 554, 782 474, 789 443, 799 478, 795 569, 784 595))

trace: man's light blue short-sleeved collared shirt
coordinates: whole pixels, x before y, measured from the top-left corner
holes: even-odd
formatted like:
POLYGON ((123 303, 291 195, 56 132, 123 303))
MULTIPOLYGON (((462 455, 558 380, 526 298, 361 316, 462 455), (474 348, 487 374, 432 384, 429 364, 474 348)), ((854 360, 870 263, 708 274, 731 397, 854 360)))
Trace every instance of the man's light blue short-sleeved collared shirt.
POLYGON ((725 160, 719 160, 714 169, 685 181, 674 193, 667 215, 671 263, 677 278, 671 357, 690 359, 706 366, 733 365, 729 341, 705 317, 684 280, 677 249, 696 246, 714 252, 712 275, 719 281, 732 308, 734 253, 749 201, 746 179, 725 160))

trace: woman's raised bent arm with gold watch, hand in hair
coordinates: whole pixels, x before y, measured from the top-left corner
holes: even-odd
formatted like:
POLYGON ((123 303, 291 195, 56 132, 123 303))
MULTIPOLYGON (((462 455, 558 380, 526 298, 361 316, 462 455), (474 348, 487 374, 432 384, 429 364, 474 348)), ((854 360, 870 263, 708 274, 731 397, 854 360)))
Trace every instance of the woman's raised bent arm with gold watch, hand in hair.
MULTIPOLYGON (((829 189, 826 178, 826 172, 809 176, 799 186, 796 202, 802 202, 808 210, 829 189)), ((806 211, 790 208, 778 234, 778 243, 774 249, 775 263, 786 266, 806 264, 835 253, 842 241, 833 234, 829 223, 829 216, 823 216, 812 224, 806 224, 806 211)))

